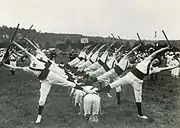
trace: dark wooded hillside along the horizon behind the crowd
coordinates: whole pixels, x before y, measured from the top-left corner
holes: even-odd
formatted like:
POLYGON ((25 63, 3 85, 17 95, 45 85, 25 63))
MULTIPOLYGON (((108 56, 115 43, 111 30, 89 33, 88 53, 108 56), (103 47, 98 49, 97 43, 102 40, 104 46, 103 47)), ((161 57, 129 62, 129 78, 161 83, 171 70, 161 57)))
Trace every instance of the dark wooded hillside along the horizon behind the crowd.
MULTIPOLYGON (((13 33, 15 31, 15 27, 7 27, 3 25, 0 27, 0 47, 7 47, 9 44, 9 40, 13 36, 13 33)), ((28 29, 19 29, 18 33, 24 35, 28 29)), ((30 30, 30 32, 27 35, 28 39, 32 39, 35 35, 37 35, 37 31, 35 29, 30 30)), ((88 38, 89 42, 88 44, 92 45, 98 45, 98 44, 111 44, 115 40, 112 37, 89 37, 89 36, 84 36, 81 34, 62 34, 62 33, 39 33, 38 36, 34 39, 42 49, 47 49, 47 48, 58 48, 60 50, 66 50, 66 49, 82 49, 85 45, 87 44, 82 44, 81 43, 81 38, 88 38)), ((135 47, 139 41, 138 40, 126 40, 122 39, 122 42, 119 41, 118 39, 117 43, 112 47, 112 49, 115 49, 119 47, 122 43, 125 46, 126 50, 131 49, 132 47, 135 47)), ((145 48, 149 47, 155 47, 156 43, 159 43, 160 46, 163 46, 166 44, 165 40, 161 41, 149 41, 149 40, 144 40, 143 43, 146 45, 145 48)), ((175 48, 180 49, 180 41, 175 40, 171 41, 171 43, 174 45, 175 48)))

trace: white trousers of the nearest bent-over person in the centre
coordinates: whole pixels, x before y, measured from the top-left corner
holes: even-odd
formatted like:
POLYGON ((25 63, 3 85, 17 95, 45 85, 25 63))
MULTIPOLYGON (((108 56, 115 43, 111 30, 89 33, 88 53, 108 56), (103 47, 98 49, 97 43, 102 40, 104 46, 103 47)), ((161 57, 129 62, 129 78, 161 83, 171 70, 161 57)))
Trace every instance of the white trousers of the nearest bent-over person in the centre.
POLYGON ((100 109, 101 98, 96 94, 87 94, 84 97, 84 115, 87 114, 98 115, 100 109), (92 112, 91 112, 92 108, 92 112))

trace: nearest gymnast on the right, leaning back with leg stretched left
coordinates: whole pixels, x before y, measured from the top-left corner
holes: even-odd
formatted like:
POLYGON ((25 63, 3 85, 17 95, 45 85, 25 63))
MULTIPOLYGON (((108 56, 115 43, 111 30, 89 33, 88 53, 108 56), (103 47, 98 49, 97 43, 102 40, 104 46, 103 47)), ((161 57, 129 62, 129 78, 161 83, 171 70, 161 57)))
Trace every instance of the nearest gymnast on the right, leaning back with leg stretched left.
POLYGON ((161 72, 165 70, 170 70, 173 69, 177 66, 173 67, 157 67, 158 65, 158 59, 155 59, 156 55, 162 51, 165 51, 169 49, 170 47, 165 47, 160 50, 155 51, 152 53, 150 56, 146 57, 143 61, 137 64, 137 66, 129 73, 127 73, 125 76, 119 78, 115 82, 111 83, 110 85, 96 91, 96 92, 108 92, 112 88, 118 87, 118 86, 123 86, 123 85, 132 85, 133 90, 134 90, 134 95, 136 99, 136 105, 138 109, 138 116, 143 119, 147 119, 148 117, 142 114, 141 110, 141 102, 142 102, 142 84, 143 84, 143 79, 144 76, 151 74, 151 73, 156 73, 156 72, 161 72), (150 64, 152 65, 152 69, 150 69, 150 64))

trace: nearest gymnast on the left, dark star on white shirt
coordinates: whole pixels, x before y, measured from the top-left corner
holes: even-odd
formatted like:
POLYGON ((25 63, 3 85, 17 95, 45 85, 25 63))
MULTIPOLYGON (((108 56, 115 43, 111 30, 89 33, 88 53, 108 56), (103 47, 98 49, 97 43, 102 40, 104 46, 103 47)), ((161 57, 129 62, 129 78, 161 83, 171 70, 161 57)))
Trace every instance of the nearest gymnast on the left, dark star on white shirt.
MULTIPOLYGON (((40 123, 42 119, 42 110, 45 104, 45 101, 47 99, 47 96, 49 94, 49 91, 51 89, 52 85, 60 85, 65 87, 74 87, 76 89, 84 90, 87 93, 88 90, 85 90, 82 86, 76 85, 73 82, 70 82, 63 77, 61 77, 59 74, 53 72, 49 68, 47 68, 44 63, 39 61, 35 56, 33 56, 31 53, 27 52, 23 47, 21 47, 19 44, 13 42, 18 48, 20 48, 30 59, 31 63, 28 67, 17 67, 5 64, 5 66, 13 69, 19 69, 23 70, 25 72, 33 73, 41 82, 41 88, 40 88, 40 98, 39 98, 39 108, 38 108, 38 116, 36 119, 36 123, 40 123)), ((91 91, 90 91, 91 92, 91 91)))

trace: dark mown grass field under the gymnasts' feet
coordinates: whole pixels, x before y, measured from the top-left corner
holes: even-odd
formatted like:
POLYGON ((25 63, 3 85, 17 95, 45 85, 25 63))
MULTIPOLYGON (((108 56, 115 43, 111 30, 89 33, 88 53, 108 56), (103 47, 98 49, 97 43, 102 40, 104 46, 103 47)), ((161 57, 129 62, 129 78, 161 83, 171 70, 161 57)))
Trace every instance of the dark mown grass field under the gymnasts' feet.
MULTIPOLYGON (((60 58, 67 62, 67 58, 60 58)), ((180 128, 180 78, 169 72, 159 74, 158 81, 146 78, 143 85, 143 112, 150 118, 137 117, 132 88, 122 89, 122 104, 102 97, 103 115, 99 123, 85 123, 69 101, 68 89, 54 85, 48 96, 42 123, 35 124, 40 83, 35 76, 0 68, 0 128, 180 128)))

